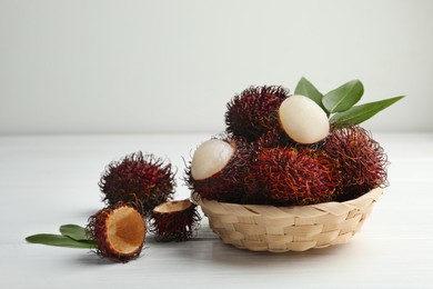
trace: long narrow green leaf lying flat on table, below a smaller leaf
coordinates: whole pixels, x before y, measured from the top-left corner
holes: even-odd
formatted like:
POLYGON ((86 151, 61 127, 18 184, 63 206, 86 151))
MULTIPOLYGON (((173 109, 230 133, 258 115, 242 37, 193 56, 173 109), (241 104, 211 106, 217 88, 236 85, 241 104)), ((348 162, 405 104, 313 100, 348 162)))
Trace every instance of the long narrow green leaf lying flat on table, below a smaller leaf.
POLYGON ((82 248, 82 249, 95 249, 97 245, 94 241, 77 241, 69 237, 62 235, 53 233, 38 233, 32 235, 26 238, 28 242, 31 243, 41 243, 57 247, 68 247, 68 248, 82 248))

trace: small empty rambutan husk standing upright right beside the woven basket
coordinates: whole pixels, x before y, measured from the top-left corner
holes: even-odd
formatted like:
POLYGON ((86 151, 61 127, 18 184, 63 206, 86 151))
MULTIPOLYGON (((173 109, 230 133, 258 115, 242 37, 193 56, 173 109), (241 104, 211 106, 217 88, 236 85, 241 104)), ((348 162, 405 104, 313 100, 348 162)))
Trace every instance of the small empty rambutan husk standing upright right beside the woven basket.
POLYGON ((150 231, 157 241, 187 241, 199 228, 201 217, 197 205, 189 199, 168 201, 157 206, 150 213, 150 231))

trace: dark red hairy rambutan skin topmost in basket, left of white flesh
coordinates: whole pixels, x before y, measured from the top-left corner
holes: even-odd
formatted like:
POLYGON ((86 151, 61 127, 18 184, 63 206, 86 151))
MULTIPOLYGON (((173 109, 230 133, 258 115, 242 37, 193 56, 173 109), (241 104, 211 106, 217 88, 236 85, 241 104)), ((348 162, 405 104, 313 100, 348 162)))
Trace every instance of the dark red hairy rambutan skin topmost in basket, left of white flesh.
POLYGON ((254 141, 278 126, 278 110, 290 96, 280 86, 250 87, 226 104, 226 131, 248 141, 254 141))

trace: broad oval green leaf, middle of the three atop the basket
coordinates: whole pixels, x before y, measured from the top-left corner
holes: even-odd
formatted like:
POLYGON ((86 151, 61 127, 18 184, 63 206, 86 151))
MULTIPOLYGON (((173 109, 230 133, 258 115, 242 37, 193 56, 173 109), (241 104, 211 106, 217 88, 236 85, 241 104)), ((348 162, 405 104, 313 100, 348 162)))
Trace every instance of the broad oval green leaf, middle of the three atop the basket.
POLYGON ((364 93, 364 86, 360 80, 352 80, 328 92, 322 103, 329 113, 342 112, 353 107, 364 93))

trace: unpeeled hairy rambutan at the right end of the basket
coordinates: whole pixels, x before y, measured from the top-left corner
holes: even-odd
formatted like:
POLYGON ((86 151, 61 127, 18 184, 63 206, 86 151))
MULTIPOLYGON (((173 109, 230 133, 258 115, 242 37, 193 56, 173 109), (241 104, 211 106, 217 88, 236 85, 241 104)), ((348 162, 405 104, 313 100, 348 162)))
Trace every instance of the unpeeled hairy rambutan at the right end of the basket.
POLYGON ((338 160, 343 175, 343 193, 339 200, 354 199, 376 187, 387 186, 387 157, 364 128, 332 128, 324 150, 338 160))

